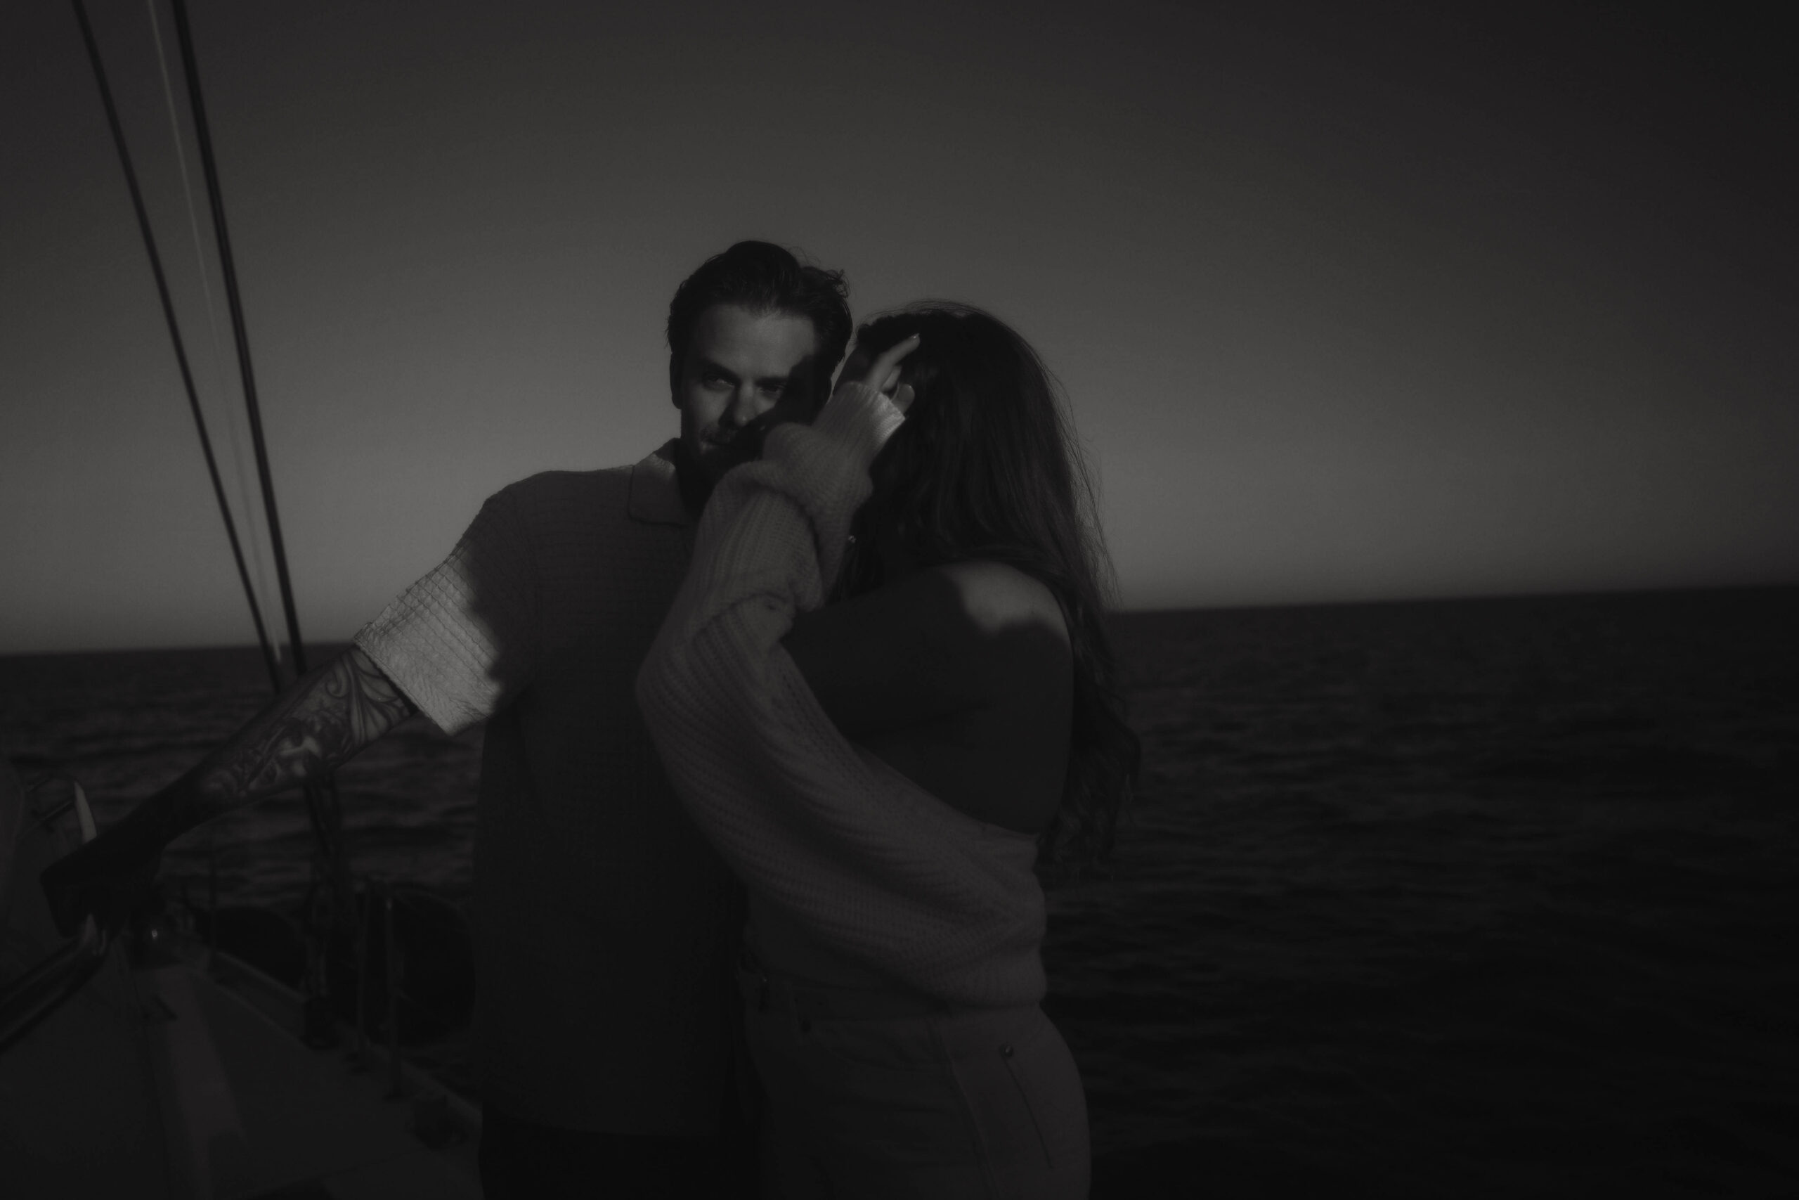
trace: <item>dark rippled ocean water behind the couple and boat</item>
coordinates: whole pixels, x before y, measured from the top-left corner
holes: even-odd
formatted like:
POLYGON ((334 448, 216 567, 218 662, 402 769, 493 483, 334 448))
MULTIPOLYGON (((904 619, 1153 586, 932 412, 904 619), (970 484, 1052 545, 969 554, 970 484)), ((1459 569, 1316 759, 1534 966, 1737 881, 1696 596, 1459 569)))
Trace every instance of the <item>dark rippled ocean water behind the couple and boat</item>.
MULTIPOLYGON (((1117 617, 1141 788, 1043 948, 1094 1195, 1799 1195, 1795 617, 1117 617)), ((264 700, 254 651, 0 658, 0 752, 104 826, 264 700)), ((466 898, 479 748, 419 721, 340 772, 353 867, 466 898)), ((164 867, 282 907, 309 853, 275 799, 164 867)))

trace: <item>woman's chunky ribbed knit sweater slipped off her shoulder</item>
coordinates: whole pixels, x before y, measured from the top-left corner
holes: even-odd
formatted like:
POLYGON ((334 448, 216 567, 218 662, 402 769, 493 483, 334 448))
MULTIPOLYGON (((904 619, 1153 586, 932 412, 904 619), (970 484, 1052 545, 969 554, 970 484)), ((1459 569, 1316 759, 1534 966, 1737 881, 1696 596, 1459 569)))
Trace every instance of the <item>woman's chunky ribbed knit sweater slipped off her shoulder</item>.
POLYGON ((720 480, 637 702, 694 824, 819 945, 952 1004, 1034 1004, 1033 842, 846 739, 781 646, 835 581, 869 462, 901 421, 847 385, 720 480))

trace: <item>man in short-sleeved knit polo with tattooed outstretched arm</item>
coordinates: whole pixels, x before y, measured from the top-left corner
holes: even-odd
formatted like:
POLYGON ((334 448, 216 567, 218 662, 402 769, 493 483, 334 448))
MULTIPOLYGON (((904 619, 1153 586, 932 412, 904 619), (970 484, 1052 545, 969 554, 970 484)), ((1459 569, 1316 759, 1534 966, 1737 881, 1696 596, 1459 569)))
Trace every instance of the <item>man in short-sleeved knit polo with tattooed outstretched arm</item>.
POLYGON ((712 484, 763 428, 817 414, 849 333, 837 272, 757 241, 702 264, 669 306, 680 437, 631 468, 491 497, 349 651, 45 873, 65 932, 115 914, 121 883, 153 874, 178 833, 331 770, 412 712, 444 732, 486 720, 473 923, 489 1200, 752 1178, 741 1121, 732 1133, 743 892, 669 790, 631 689, 712 484))

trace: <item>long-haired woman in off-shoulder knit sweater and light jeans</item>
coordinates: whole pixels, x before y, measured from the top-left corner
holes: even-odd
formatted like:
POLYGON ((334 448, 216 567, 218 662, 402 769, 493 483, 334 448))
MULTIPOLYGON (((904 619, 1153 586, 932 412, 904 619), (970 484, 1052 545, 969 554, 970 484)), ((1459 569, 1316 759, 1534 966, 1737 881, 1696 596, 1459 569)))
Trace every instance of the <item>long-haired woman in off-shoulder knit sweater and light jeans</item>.
POLYGON ((964 306, 865 326, 712 493, 637 691, 750 891, 765 1195, 1087 1195, 1034 867, 1135 774, 1101 561, 1047 372, 964 306))

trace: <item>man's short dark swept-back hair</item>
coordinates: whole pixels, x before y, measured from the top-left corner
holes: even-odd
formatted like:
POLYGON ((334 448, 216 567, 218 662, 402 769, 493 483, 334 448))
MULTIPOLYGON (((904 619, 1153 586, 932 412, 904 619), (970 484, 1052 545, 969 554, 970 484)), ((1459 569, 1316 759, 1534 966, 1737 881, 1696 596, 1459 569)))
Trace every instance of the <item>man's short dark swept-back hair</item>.
POLYGON ((817 394, 831 394, 831 372, 849 345, 849 286, 844 272, 808 266, 768 241, 739 241, 682 281, 669 302, 669 387, 680 387, 680 360, 700 313, 739 304, 752 313, 792 313, 819 331, 817 394))

